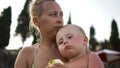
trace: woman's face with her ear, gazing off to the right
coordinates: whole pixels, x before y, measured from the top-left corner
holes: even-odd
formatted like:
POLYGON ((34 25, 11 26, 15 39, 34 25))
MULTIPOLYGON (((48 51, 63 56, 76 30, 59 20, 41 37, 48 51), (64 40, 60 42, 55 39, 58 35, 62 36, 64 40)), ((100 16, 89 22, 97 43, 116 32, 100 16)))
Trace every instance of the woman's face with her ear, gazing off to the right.
POLYGON ((63 26, 63 12, 55 1, 43 3, 42 15, 38 18, 38 27, 43 34, 55 36, 63 26))

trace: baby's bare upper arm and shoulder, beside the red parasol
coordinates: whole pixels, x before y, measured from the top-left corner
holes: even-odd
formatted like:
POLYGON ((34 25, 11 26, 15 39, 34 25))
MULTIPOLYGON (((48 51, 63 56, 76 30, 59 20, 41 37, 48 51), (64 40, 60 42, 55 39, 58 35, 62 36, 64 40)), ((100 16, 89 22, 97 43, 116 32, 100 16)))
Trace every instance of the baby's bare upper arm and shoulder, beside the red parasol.
POLYGON ((92 52, 89 55, 89 68, 104 68, 104 64, 97 54, 92 52))

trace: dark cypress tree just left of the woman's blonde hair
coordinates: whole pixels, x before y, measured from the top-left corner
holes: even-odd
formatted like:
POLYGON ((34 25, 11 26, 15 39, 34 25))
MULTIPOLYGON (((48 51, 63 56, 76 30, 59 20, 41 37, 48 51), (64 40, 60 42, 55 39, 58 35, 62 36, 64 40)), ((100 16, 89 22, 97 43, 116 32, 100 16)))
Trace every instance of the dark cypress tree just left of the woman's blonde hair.
POLYGON ((18 17, 18 25, 16 28, 16 35, 20 34, 22 36, 22 42, 26 40, 27 37, 30 36, 30 31, 29 31, 29 13, 28 13, 28 5, 31 2, 31 0, 26 0, 25 6, 20 13, 18 17))

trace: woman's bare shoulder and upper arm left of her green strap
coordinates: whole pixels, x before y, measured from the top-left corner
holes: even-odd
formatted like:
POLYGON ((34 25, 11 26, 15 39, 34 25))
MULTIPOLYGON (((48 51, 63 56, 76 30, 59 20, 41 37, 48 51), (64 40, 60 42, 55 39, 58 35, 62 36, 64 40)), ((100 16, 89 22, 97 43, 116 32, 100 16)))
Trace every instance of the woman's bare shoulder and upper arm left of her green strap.
POLYGON ((27 65, 30 67, 33 62, 32 58, 34 57, 36 48, 37 48, 37 45, 32 45, 32 46, 22 48, 18 53, 14 67, 26 68, 27 65))

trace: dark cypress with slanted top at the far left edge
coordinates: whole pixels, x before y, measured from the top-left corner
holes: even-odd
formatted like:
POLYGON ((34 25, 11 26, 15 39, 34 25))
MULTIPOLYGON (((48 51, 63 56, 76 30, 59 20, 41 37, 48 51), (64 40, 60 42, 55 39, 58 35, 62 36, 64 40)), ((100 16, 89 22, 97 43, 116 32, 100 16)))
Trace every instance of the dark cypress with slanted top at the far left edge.
POLYGON ((11 25, 11 7, 4 9, 0 16, 0 48, 9 43, 11 25))

